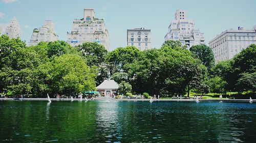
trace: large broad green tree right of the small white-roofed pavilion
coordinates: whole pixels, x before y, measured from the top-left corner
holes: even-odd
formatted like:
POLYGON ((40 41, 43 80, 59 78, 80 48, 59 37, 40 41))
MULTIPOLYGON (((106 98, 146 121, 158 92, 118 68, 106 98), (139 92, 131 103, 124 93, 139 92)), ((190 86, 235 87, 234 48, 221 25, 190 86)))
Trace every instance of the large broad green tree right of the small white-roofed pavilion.
POLYGON ((190 89, 199 83, 201 66, 188 50, 164 45, 141 52, 137 60, 125 67, 135 92, 173 96, 184 94, 186 87, 190 89))

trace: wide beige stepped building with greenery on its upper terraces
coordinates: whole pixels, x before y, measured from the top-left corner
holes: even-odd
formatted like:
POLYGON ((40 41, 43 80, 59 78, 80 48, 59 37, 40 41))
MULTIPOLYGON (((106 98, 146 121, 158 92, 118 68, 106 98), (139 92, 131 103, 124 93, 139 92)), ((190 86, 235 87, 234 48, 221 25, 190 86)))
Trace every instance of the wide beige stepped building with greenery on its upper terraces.
POLYGON ((71 33, 67 33, 67 42, 77 46, 84 42, 97 42, 109 50, 109 32, 103 19, 94 17, 94 9, 84 9, 83 18, 75 19, 71 33))

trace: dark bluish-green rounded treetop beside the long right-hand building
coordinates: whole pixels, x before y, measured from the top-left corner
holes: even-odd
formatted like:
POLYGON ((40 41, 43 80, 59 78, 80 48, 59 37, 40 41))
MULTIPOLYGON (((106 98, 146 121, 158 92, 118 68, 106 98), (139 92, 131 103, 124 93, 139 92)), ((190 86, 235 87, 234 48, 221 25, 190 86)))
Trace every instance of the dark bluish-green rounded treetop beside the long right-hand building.
POLYGON ((206 45, 195 45, 189 49, 208 69, 214 66, 214 52, 206 45))

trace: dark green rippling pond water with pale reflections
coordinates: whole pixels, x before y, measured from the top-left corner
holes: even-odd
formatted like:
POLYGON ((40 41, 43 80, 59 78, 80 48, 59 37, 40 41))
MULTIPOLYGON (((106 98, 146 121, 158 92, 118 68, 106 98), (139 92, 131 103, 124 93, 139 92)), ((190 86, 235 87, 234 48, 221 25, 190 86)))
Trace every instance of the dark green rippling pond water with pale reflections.
POLYGON ((256 142, 247 102, 0 101, 0 142, 256 142))

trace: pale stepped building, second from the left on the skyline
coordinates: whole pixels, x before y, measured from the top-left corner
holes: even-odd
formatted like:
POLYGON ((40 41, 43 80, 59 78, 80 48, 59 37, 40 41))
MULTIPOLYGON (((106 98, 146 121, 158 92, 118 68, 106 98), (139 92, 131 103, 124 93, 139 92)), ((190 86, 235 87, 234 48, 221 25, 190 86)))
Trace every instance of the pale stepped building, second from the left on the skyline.
POLYGON ((42 25, 39 29, 34 29, 28 45, 37 45, 41 41, 51 42, 57 40, 58 35, 55 34, 54 23, 51 20, 45 20, 44 25, 42 25))

